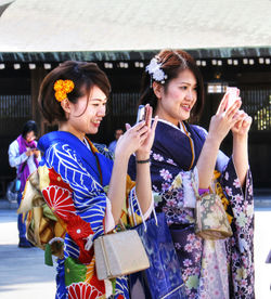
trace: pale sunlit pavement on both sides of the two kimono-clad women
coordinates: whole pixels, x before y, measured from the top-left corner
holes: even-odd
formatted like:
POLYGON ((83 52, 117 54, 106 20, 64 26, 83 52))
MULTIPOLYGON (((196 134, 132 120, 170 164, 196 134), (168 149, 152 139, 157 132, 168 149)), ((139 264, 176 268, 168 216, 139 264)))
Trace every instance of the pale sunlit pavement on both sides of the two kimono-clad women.
MULTIPOLYGON (((269 194, 256 194, 255 206, 256 298, 268 299, 271 298, 271 263, 266 262, 271 250, 269 194)), ((43 251, 17 247, 15 209, 16 204, 0 199, 0 298, 54 298, 55 269, 44 265, 43 251)))

